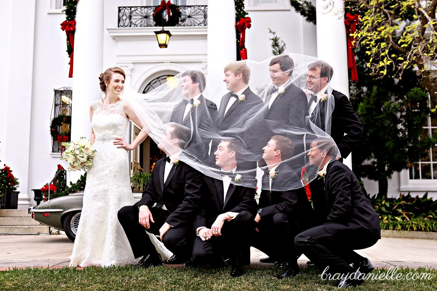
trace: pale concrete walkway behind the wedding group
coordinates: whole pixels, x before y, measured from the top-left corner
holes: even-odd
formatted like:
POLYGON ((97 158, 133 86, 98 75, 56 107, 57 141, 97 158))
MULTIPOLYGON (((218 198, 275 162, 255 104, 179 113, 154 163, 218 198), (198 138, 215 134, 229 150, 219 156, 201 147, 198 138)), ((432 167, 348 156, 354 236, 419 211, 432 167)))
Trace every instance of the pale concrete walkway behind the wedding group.
MULTIPOLYGON (((73 242, 66 235, 0 235, 0 271, 14 267, 68 266, 73 242)), ((437 269, 437 240, 383 237, 370 248, 358 253, 370 259, 375 267, 431 267, 437 269)), ((265 254, 252 248, 251 265, 259 263, 265 254)), ((301 266, 307 259, 299 259, 301 266)))

